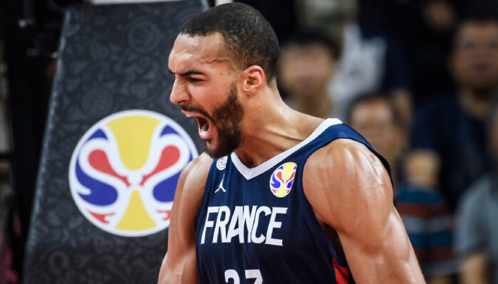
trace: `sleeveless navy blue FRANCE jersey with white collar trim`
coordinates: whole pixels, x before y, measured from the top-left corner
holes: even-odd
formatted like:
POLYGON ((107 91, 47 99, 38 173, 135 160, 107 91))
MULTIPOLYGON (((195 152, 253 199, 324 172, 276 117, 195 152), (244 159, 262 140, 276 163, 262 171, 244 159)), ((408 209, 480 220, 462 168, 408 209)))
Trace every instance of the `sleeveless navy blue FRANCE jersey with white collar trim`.
POLYGON ((338 138, 373 151, 350 127, 328 119, 257 167, 247 168, 234 153, 214 160, 194 224, 199 283, 354 283, 302 183, 306 159, 338 138))

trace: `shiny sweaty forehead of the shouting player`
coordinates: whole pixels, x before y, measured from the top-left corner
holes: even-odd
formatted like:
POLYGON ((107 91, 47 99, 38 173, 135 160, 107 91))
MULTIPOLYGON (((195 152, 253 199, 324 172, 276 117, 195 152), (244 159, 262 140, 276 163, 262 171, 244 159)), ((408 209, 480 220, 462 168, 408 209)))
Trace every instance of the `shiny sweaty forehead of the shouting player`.
POLYGON ((194 65, 210 65, 225 61, 231 60, 220 33, 208 36, 180 34, 170 53, 169 67, 176 73, 180 71, 176 70, 177 68, 193 68, 194 65))

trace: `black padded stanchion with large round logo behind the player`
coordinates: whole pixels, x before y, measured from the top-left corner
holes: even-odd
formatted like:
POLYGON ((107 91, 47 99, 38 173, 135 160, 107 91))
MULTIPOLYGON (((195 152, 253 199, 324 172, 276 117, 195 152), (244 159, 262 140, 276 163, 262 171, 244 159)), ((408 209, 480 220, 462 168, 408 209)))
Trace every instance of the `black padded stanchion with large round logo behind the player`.
POLYGON ((197 124, 169 101, 167 58, 202 0, 66 11, 24 283, 156 283, 197 124))

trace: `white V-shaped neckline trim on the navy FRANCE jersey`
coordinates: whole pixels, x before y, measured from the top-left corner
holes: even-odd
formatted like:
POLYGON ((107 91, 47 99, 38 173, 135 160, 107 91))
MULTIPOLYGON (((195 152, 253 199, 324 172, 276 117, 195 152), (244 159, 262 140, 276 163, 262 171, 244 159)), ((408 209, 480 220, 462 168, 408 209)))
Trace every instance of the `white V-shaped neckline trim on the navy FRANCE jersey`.
POLYGON ((274 167, 276 164, 281 162, 283 159, 286 157, 289 157, 292 153, 296 152, 297 150, 301 149, 304 147, 306 144, 309 142, 313 141, 318 135, 321 135, 323 131, 325 131, 328 127, 331 127, 332 125, 338 125, 343 123, 341 120, 338 120, 337 118, 328 118, 321 122, 318 127, 316 127, 316 130, 311 133, 305 140, 299 142, 294 147, 291 147, 290 149, 287 149, 284 152, 281 152, 280 154, 277 154, 275 157, 272 157, 271 159, 267 160, 266 162, 259 164, 258 166, 254 168, 248 168, 246 167, 245 164, 243 164, 239 157, 237 157, 237 154, 235 152, 232 152, 230 154, 230 158, 232 159, 232 162, 234 163, 234 166, 237 168, 237 170, 242 174, 243 177, 246 179, 252 179, 254 177, 259 176, 260 174, 263 174, 267 170, 271 169, 274 167))

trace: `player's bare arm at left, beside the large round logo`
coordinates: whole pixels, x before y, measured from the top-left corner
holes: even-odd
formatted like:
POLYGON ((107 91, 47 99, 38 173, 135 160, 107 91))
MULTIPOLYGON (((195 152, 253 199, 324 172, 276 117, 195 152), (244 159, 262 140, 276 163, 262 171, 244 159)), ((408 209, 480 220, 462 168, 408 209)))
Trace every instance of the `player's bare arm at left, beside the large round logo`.
POLYGON ((202 202, 211 158, 206 154, 183 169, 171 212, 168 251, 162 261, 158 284, 197 283, 194 219, 202 202))

